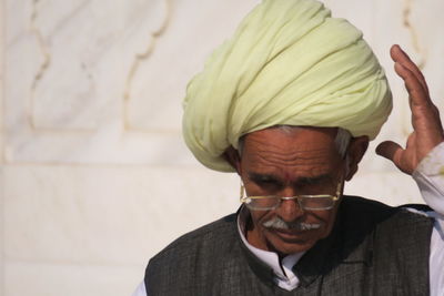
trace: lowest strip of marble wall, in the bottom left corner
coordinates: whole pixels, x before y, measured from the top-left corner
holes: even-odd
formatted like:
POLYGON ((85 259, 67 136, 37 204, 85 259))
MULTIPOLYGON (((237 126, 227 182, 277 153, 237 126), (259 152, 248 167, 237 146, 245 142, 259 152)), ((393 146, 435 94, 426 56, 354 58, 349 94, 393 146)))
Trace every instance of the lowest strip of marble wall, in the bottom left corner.
POLYGON ((17 262, 4 266, 4 295, 131 295, 140 284, 140 267, 17 262))

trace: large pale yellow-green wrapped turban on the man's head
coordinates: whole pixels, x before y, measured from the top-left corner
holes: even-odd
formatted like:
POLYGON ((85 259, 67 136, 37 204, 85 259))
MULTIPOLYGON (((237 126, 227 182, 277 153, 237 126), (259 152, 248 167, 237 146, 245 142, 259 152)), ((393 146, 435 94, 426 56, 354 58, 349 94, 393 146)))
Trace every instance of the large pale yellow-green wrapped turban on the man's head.
POLYGON ((392 109, 362 33, 314 0, 264 0, 188 85, 183 135, 205 166, 253 131, 278 124, 340 126, 373 140, 392 109))

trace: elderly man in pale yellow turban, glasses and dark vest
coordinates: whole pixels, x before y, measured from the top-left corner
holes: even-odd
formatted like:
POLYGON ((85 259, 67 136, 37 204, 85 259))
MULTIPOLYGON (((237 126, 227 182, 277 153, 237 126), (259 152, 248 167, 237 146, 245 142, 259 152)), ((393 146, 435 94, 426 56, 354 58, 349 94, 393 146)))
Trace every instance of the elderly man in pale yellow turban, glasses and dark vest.
POLYGON ((377 153, 433 210, 343 195, 392 108, 384 71, 320 2, 264 0, 184 101, 188 146, 240 175, 243 205, 154 256, 135 295, 443 295, 443 129, 420 70, 391 55, 414 132, 377 153))

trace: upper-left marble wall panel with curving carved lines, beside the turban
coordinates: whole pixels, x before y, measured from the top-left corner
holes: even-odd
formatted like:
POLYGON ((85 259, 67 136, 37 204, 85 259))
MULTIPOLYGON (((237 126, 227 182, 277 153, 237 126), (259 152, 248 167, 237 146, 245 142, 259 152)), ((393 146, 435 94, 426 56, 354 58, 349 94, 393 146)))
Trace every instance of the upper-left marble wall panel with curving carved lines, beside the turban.
POLYGON ((255 2, 4 1, 7 161, 138 164, 192 163, 186 82, 255 2))

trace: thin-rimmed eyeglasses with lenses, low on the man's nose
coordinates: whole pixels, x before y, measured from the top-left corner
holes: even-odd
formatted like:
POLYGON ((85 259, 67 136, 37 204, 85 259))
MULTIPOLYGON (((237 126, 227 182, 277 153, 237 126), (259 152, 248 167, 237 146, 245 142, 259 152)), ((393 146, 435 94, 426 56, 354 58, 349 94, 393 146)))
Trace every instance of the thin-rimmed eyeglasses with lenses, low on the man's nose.
POLYGON ((245 188, 241 184, 241 203, 253 211, 269 211, 278 208, 282 201, 296 200, 299 206, 305 211, 325 211, 333 208, 335 202, 341 196, 342 178, 337 183, 336 195, 295 195, 295 196, 246 196, 245 188))

